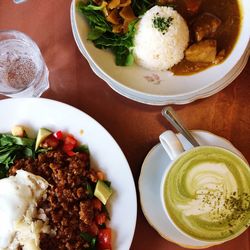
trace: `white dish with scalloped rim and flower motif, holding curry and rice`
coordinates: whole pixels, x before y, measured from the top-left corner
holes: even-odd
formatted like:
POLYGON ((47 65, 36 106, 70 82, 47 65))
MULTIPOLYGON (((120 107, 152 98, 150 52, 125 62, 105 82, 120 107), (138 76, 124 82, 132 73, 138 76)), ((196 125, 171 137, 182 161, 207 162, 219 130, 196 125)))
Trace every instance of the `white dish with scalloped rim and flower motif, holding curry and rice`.
POLYGON ((111 53, 95 48, 93 43, 87 40, 88 25, 76 11, 76 2, 77 0, 73 0, 71 3, 70 15, 73 35, 79 50, 97 76, 115 91, 132 100, 152 105, 189 103, 225 88, 241 73, 247 63, 249 49, 243 53, 250 33, 250 17, 244 14, 248 10, 250 12, 250 2, 247 0, 242 0, 246 6, 243 9, 243 19, 247 25, 242 29, 239 42, 230 57, 223 64, 188 77, 174 76, 169 72, 148 71, 135 64, 129 67, 116 66, 111 53))

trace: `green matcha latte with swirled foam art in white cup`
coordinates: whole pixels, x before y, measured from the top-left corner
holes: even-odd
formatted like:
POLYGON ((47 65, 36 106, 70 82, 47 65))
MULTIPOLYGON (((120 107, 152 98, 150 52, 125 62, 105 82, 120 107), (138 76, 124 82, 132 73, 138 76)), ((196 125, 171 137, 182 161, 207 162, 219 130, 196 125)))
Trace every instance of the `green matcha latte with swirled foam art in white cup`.
POLYGON ((163 195, 173 222, 196 239, 228 240, 250 224, 249 166, 224 149, 198 147, 180 157, 163 195))

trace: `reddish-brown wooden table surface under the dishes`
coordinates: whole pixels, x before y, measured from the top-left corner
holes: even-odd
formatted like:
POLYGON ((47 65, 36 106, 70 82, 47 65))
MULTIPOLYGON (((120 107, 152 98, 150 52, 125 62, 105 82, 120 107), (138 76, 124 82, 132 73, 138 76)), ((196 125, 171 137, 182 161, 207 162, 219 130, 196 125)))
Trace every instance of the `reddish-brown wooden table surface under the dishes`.
MULTIPOLYGON (((50 89, 42 97, 68 103, 100 122, 122 148, 138 187, 143 159, 158 143, 159 134, 172 127, 161 116, 162 107, 126 99, 92 72, 72 36, 70 3, 70 0, 28 0, 16 5, 11 0, 2 0, 0 30, 16 29, 37 42, 50 71, 50 89)), ((189 129, 208 130, 225 137, 250 162, 250 62, 241 75, 218 94, 173 107, 189 129)), ((148 224, 138 199, 131 249, 184 248, 164 240, 148 224)), ((238 238, 210 249, 249 250, 250 229, 238 238)))

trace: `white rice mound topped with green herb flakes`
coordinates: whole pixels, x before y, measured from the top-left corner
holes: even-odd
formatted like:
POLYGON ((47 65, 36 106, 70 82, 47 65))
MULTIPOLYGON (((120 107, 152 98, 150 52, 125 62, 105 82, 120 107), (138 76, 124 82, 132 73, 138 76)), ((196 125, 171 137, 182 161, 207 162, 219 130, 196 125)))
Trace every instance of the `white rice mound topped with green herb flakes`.
POLYGON ((186 21, 171 7, 154 6, 138 22, 134 39, 135 62, 150 70, 168 70, 184 57, 189 30, 186 21), (154 17, 172 17, 170 27, 161 32, 153 25, 154 17))

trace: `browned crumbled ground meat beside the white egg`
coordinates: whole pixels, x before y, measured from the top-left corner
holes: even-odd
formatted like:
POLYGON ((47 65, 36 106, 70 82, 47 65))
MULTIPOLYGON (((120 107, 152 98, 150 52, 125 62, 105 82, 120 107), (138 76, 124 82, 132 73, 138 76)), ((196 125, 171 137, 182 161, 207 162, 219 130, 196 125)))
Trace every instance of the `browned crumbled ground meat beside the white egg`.
POLYGON ((38 204, 45 211, 52 233, 42 234, 42 250, 88 249, 90 242, 84 234, 98 237, 106 227, 108 214, 92 190, 103 176, 90 169, 88 152, 69 156, 60 148, 40 153, 37 158, 16 160, 9 175, 23 169, 46 179, 50 186, 46 197, 38 204))

